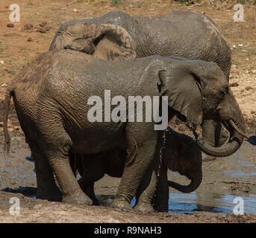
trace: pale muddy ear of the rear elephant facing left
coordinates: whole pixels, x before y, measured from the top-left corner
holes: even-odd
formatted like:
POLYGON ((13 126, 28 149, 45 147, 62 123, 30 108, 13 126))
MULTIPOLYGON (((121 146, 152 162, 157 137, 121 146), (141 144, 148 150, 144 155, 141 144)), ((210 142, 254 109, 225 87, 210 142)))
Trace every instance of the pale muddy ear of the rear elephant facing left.
POLYGON ((134 40, 117 25, 102 24, 94 40, 94 56, 103 60, 128 60, 136 58, 134 40))

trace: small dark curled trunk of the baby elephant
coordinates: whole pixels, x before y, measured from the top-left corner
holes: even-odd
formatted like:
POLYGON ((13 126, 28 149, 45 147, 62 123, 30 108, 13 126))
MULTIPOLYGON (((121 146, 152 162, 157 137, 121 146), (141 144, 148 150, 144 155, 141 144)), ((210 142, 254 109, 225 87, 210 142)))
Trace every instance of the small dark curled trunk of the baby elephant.
POLYGON ((196 172, 190 173, 189 179, 191 179, 190 184, 181 185, 175 183, 175 181, 169 181, 169 186, 175 188, 182 193, 192 193, 196 190, 202 182, 202 170, 196 170, 196 172))

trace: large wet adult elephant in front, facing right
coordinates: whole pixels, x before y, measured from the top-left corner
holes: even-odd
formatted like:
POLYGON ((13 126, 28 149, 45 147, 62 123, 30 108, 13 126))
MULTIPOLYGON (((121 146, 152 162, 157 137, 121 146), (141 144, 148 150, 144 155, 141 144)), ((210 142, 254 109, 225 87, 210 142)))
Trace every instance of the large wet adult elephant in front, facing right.
MULTIPOLYGON (((104 99, 106 89, 110 90, 111 98, 121 95, 126 101, 131 95, 168 96, 169 109, 183 115, 192 126, 201 125, 204 115, 222 121, 231 132, 228 144, 216 148, 201 139, 197 141, 209 155, 231 155, 243 142, 243 136, 234 130, 245 130, 243 115, 225 74, 214 62, 160 56, 113 61, 95 59, 78 51, 49 51, 22 68, 7 87, 4 101, 4 151, 10 149, 7 117, 13 97, 35 160, 37 198, 60 196, 54 173, 63 202, 90 204, 72 173, 69 153, 90 155, 121 148, 126 152, 125 169, 113 208, 131 208, 131 199, 143 176, 152 163, 159 161, 154 154, 160 133, 154 130, 154 121, 91 123, 87 118, 92 108, 88 99, 96 95, 104 99)), ((136 114, 135 111, 135 118, 136 114)), ((156 165, 149 184, 152 190, 157 173, 156 165)))

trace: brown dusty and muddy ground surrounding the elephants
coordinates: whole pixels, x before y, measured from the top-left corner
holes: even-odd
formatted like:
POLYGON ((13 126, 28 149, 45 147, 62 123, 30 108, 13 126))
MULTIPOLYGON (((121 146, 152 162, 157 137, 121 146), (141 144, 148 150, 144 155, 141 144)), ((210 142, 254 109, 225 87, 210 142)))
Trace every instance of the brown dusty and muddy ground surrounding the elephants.
MULTIPOLYGON (((256 6, 244 5, 245 22, 234 22, 235 1, 201 1, 200 4, 178 4, 172 1, 121 1, 114 6, 110 0, 87 1, 16 1, 20 7, 20 22, 10 22, 9 6, 12 1, 0 2, 0 112, 6 85, 20 68, 37 54, 48 51, 54 33, 60 24, 72 19, 101 16, 110 10, 122 10, 144 16, 162 15, 177 9, 192 9, 204 12, 213 18, 225 35, 232 49, 231 89, 237 98, 247 121, 247 132, 251 136, 234 155, 219 158, 203 164, 203 182, 196 190, 198 196, 207 193, 219 194, 210 201, 210 207, 217 207, 221 195, 249 196, 256 194, 256 6), (211 2, 211 3, 210 3, 211 2), (44 23, 45 22, 45 23, 44 23), (7 24, 13 23, 13 28, 7 24), (243 164, 243 163, 249 163, 243 164), (237 171, 243 176, 236 176, 237 171), (219 196, 219 197, 218 197, 219 196), (212 204, 213 203, 213 204, 212 204)), ((184 132, 184 126, 172 126, 184 132)), ((0 222, 256 222, 256 216, 246 214, 234 216, 232 213, 219 214, 202 211, 194 215, 174 213, 140 214, 121 212, 104 207, 66 205, 34 199, 36 178, 34 164, 26 161, 30 155, 28 145, 19 127, 13 104, 9 115, 12 136, 11 156, 4 168, 2 149, 0 149, 1 188, 0 222), (2 172, 4 168, 4 171, 2 172), (10 198, 20 199, 20 215, 10 216, 10 198)), ((2 148, 2 115, 0 114, 0 148, 2 148)), ((175 173, 170 179, 182 183, 187 180, 175 173)), ((96 183, 96 194, 114 196, 119 179, 105 176, 96 183)), ((170 190, 170 193, 174 191, 170 190)), ((256 201, 255 201, 256 208, 256 201)), ((206 209, 207 210, 207 209, 206 209)))

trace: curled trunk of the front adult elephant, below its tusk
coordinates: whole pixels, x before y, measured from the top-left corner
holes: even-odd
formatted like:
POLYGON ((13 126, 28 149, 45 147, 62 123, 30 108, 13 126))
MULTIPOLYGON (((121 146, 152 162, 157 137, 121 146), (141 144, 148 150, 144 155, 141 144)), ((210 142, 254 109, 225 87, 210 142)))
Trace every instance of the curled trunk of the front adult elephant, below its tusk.
POLYGON ((221 147, 212 147, 205 141, 198 139, 197 144, 199 148, 202 149, 203 152, 207 155, 216 156, 216 157, 224 157, 232 155, 237 149, 240 148, 243 143, 243 138, 246 137, 245 131, 245 122, 243 119, 242 113, 240 114, 239 119, 233 121, 223 121, 223 124, 228 127, 227 129, 230 132, 230 139, 227 144, 222 145, 221 147), (228 124, 225 125, 225 123, 228 124))

